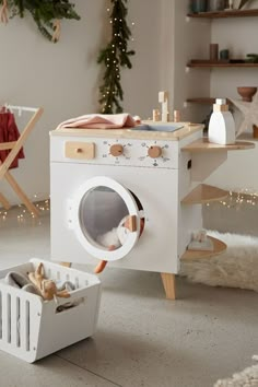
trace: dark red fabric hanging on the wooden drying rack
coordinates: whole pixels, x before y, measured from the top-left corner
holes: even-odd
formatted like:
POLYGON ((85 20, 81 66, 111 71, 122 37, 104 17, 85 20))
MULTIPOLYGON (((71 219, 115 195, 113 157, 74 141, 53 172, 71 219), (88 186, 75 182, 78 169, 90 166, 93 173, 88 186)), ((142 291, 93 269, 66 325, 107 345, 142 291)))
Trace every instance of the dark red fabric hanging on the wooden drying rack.
MULTIPOLYGON (((20 132, 14 119, 14 115, 10 112, 0 113, 0 142, 17 141, 20 132)), ((0 161, 4 162, 11 150, 0 151, 0 161)), ((19 151, 16 157, 13 160, 9 168, 16 168, 19 166, 19 159, 24 159, 23 148, 19 151)))

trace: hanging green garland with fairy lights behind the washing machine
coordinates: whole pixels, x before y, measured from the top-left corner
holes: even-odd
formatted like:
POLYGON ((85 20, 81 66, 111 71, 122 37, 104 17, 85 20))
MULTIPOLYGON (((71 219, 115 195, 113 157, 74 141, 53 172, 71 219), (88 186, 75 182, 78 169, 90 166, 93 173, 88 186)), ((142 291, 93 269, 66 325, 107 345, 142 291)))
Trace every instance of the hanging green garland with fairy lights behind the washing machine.
POLYGON ((97 62, 104 63, 106 69, 103 77, 103 85, 99 87, 99 104, 103 114, 121 113, 124 92, 120 83, 121 68, 131 69, 130 56, 133 50, 128 50, 128 40, 131 31, 128 27, 126 16, 128 10, 125 5, 127 0, 110 0, 113 10, 110 12, 112 39, 98 56, 97 62))

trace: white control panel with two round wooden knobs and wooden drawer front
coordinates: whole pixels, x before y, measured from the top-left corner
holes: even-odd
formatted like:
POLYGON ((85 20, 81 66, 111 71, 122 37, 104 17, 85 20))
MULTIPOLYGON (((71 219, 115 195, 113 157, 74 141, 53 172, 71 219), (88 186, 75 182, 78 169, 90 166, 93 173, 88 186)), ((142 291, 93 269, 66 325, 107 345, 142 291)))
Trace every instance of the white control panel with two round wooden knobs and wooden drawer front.
POLYGON ((178 168, 178 141, 52 137, 51 161, 178 168))

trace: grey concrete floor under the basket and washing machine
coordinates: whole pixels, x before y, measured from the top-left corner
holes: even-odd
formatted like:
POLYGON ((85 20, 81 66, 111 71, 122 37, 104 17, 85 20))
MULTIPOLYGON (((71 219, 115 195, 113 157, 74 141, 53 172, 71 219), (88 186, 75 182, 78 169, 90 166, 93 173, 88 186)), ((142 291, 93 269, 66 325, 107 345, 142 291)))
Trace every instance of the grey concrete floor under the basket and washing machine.
MULTIPOLYGON (((20 213, 0 214, 0 269, 49 259, 49 212, 23 221, 20 213)), ((172 302, 157 273, 107 268, 101 279, 95 336, 35 364, 0 351, 0 387, 211 387, 258 354, 255 292, 178 278, 172 302)))

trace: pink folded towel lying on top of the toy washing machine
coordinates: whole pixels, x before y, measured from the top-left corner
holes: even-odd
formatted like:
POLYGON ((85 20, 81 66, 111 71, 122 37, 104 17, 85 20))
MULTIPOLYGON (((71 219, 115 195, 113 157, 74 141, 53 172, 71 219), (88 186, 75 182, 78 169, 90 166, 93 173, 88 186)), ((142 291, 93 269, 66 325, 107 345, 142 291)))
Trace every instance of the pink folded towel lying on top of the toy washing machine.
POLYGON ((122 114, 89 114, 77 118, 70 118, 58 125, 57 129, 81 128, 81 129, 119 129, 132 128, 138 124, 128 113, 122 114))

